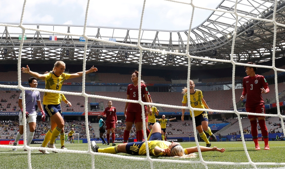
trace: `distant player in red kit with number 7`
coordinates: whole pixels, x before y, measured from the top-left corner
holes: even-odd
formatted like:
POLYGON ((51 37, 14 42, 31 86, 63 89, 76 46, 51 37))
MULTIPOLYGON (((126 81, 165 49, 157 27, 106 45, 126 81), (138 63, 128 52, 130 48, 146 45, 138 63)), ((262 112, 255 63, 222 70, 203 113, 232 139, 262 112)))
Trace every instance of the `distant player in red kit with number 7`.
POLYGON ((110 129, 112 133, 112 146, 115 146, 115 128, 118 124, 117 122, 117 115, 116 115, 116 108, 112 106, 112 101, 108 101, 108 107, 104 110, 103 117, 106 117, 106 129, 107 129, 107 145, 110 145, 110 129))

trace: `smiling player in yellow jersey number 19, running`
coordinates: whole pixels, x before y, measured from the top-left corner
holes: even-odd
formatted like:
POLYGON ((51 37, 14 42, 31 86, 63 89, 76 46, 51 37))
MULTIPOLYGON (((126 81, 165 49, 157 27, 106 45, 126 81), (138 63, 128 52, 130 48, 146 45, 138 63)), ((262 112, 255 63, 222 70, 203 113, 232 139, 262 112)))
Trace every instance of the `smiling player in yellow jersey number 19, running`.
MULTIPOLYGON (((190 104, 191 107, 193 108, 200 108, 200 109, 205 109, 205 107, 207 109, 210 109, 207 105, 207 103, 205 102, 205 100, 203 99, 203 94, 201 90, 197 90, 194 89, 195 84, 193 82, 193 80, 190 80, 189 82, 189 89, 190 91, 187 92, 187 88, 185 87, 183 90, 183 100, 182 100, 182 106, 186 106, 187 103, 187 94, 190 94, 190 104)), ((182 117, 181 120, 184 121, 184 113, 185 113, 185 109, 182 109, 182 117)), ((213 113, 213 112, 209 112, 209 113, 213 113)), ((192 117, 192 113, 190 111, 190 115, 192 117)), ((206 142, 206 147, 210 147, 211 143, 209 142, 209 140, 207 139, 206 134, 204 133, 204 131, 206 133, 208 133, 211 137, 213 141, 217 141, 216 136, 212 133, 211 129, 208 127, 208 114, 206 111, 194 111, 194 116, 195 116, 195 123, 196 123, 196 129, 199 132, 200 137, 206 142), (203 131, 204 130, 204 131, 203 131)))

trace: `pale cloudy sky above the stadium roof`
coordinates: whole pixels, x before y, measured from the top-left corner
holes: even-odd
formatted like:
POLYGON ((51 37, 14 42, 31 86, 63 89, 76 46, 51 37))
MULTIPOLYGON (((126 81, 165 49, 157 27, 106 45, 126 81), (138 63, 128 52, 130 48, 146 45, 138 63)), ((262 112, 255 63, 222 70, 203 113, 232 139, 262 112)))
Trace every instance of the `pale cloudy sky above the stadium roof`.
MULTIPOLYGON (((0 22, 18 23, 23 0, 0 1, 0 22)), ((190 2, 186 1, 186 2, 190 2)), ((194 0, 194 5, 215 8, 221 1, 194 0)), ((24 23, 84 25, 87 1, 27 0, 24 23)), ((143 0, 90 1, 87 25, 139 28, 143 0)), ((212 11, 194 10, 193 26, 201 24, 212 11)), ((147 0, 143 28, 159 30, 189 29, 192 6, 163 0, 147 0)))

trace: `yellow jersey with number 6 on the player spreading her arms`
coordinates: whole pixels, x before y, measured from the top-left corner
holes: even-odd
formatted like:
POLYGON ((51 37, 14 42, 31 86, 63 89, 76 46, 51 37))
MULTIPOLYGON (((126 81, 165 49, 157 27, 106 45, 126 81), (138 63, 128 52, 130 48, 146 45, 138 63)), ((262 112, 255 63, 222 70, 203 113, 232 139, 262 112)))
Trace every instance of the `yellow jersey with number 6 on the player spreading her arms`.
MULTIPOLYGON (((45 74, 46 88, 50 90, 58 90, 60 91, 61 86, 64 80, 70 78, 71 74, 62 73, 59 77, 57 77, 53 72, 45 74)), ((60 96, 59 93, 49 93, 44 92, 44 105, 58 105, 60 104, 60 96)))

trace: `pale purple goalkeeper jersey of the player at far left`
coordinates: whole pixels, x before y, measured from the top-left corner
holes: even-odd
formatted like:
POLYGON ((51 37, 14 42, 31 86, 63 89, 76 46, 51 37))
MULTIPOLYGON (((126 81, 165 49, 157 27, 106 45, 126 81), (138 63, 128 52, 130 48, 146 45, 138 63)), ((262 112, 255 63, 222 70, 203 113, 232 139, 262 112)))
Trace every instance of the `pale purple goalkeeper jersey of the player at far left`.
MULTIPOLYGON (((22 93, 19 99, 22 99, 22 93)), ((36 113, 36 101, 40 101, 40 92, 25 90, 26 111, 29 114, 36 113)))

